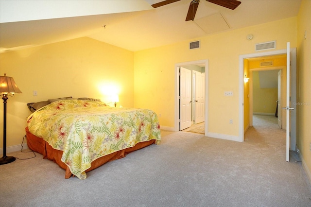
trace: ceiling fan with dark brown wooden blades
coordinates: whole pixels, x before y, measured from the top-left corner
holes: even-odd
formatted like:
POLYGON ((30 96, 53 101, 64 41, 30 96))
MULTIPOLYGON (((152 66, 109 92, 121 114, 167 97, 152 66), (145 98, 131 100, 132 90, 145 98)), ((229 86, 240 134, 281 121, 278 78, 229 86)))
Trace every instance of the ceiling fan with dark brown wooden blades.
MULTIPOLYGON (((157 7, 164 6, 164 5, 167 5, 169 3, 176 2, 176 1, 179 1, 179 0, 164 0, 164 1, 152 4, 152 7, 157 8, 157 7)), ((220 5, 220 6, 224 6, 228 9, 232 9, 232 10, 237 8, 241 4, 241 1, 238 1, 238 0, 207 0, 207 1, 211 2, 211 3, 215 3, 215 4, 220 5)), ((196 10, 198 9, 199 3, 200 3, 200 0, 192 0, 190 2, 186 21, 189 21, 189 20, 193 21, 193 19, 195 17, 196 10)))

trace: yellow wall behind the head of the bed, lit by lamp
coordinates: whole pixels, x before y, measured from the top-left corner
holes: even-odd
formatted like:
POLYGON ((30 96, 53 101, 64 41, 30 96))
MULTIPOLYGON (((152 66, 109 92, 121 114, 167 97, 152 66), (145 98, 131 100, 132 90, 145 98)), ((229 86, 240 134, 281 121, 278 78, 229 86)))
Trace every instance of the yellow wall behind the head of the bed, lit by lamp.
MULTIPOLYGON (((120 104, 134 106, 134 52, 91 38, 44 45, 0 54, 0 74, 14 78, 23 92, 9 97, 7 104, 7 147, 21 144, 27 103, 52 98, 99 98, 110 102, 106 92, 119 90, 120 104), (38 96, 33 96, 37 90, 38 96)), ((3 104, 0 104, 3 124, 3 104)), ((0 137, 3 131, 0 130, 0 137)), ((1 148, 2 148, 1 139, 1 148)))

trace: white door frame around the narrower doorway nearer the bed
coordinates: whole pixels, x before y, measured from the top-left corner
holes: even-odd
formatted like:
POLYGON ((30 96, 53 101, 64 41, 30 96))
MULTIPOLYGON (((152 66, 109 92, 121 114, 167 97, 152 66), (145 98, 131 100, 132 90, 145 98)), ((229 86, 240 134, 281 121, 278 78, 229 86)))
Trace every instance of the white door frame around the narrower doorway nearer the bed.
POLYGON ((205 64, 205 135, 207 134, 208 129, 208 119, 207 119, 207 109, 208 109, 208 60, 195 60, 190 62, 176 63, 175 70, 175 113, 174 113, 174 131, 179 131, 179 67, 205 64))

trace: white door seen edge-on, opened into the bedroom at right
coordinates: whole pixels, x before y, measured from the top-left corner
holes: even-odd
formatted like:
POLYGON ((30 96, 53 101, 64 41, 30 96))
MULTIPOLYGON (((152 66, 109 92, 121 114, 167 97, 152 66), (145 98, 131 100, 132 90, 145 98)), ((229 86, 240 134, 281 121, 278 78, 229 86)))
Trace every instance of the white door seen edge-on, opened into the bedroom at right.
POLYGON ((295 112, 290 113, 290 110, 294 110, 294 106, 291 103, 296 102, 296 67, 295 61, 293 67, 291 67, 291 52, 290 43, 287 43, 287 61, 286 61, 286 161, 290 161, 290 148, 295 149, 296 145, 296 117, 295 112), (291 107, 292 106, 292 107, 291 107), (291 140, 293 139, 293 140, 291 140), (291 146, 292 145, 292 146, 291 146))

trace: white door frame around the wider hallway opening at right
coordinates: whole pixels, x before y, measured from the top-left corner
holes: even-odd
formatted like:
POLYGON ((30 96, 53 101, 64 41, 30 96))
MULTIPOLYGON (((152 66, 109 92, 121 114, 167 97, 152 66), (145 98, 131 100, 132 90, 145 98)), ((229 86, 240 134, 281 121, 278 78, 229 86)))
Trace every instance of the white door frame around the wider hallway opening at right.
MULTIPOLYGON (((292 59, 292 68, 296 71, 296 48, 291 48, 291 59, 292 59)), ((244 141, 244 59, 246 58, 255 58, 255 57, 264 57, 264 56, 273 56, 278 54, 286 54, 287 50, 276 50, 268 52, 257 52, 250 54, 239 55, 239 141, 244 141)), ((292 74, 294 83, 296 84, 296 75, 292 74), (293 76, 294 75, 294 76, 293 76)), ((296 112, 296 110, 294 110, 296 112)), ((292 146, 291 146, 292 147, 292 146)))

